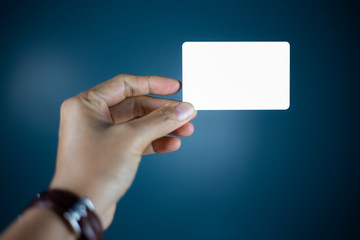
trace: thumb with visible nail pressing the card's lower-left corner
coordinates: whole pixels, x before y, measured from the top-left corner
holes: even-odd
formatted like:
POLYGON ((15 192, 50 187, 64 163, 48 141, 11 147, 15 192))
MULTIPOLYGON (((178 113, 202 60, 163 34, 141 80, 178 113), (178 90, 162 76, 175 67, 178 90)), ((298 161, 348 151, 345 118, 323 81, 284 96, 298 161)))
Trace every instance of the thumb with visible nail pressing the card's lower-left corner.
POLYGON ((155 139, 169 134, 190 121, 195 113, 192 104, 181 102, 159 108, 129 124, 137 130, 138 137, 145 148, 155 139))

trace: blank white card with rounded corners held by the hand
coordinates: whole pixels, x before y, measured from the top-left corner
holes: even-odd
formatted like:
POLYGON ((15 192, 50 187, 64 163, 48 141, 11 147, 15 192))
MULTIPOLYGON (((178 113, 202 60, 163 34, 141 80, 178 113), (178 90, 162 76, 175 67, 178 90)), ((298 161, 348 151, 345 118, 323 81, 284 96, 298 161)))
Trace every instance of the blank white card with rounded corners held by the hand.
POLYGON ((288 42, 184 42, 183 101, 197 110, 290 106, 288 42))

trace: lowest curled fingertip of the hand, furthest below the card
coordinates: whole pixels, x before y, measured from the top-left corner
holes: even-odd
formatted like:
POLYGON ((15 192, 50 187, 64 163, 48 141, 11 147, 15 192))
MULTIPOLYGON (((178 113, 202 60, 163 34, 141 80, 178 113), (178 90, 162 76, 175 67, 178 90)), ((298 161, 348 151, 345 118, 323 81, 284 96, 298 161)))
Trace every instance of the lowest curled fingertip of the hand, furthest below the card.
POLYGON ((156 139, 147 146, 143 155, 153 153, 168 153, 178 150, 181 146, 181 140, 176 137, 162 137, 156 139))

